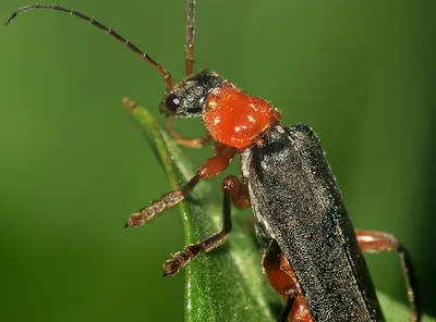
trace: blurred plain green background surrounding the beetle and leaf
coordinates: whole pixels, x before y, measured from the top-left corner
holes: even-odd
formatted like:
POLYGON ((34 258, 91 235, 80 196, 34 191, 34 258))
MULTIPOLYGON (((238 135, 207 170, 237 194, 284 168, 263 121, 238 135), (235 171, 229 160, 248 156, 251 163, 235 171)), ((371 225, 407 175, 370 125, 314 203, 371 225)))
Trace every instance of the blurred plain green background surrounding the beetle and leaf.
MULTIPOLYGON (((57 3, 95 15, 183 77, 185 1, 57 3)), ((1 1, 0 14, 24 4, 1 1)), ((270 99, 284 124, 315 128, 354 225, 407 245, 424 309, 436 314, 436 2, 202 0, 196 9, 196 70, 270 99)), ((184 244, 178 210, 123 228, 169 190, 121 106, 129 96, 157 115, 159 75, 59 12, 25 13, 0 38, 0 319, 182 321, 184 276, 160 277, 184 244)), ((199 122, 187 126, 203 133, 199 122)), ((193 164, 210 153, 186 150, 193 164)), ((405 302, 397 256, 367 258, 377 287, 405 302)))

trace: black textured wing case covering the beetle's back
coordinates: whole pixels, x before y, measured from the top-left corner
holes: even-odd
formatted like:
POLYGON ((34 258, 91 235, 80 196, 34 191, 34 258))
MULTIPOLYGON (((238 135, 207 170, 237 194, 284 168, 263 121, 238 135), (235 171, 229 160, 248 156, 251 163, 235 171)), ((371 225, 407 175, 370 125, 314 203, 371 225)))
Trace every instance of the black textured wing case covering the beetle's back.
POLYGON ((241 159, 256 224, 277 240, 317 322, 384 321, 325 152, 305 125, 276 126, 241 159))

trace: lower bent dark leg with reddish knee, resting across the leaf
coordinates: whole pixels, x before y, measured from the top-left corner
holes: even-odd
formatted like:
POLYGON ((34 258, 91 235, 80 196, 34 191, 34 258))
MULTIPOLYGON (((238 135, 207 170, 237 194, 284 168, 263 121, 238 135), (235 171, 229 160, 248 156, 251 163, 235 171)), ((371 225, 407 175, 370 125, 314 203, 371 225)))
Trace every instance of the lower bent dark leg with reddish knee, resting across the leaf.
POLYGON ((221 245, 226 239, 227 235, 230 233, 232 228, 231 221, 231 203, 233 196, 239 195, 240 185, 238 178, 234 176, 229 176, 223 179, 221 185, 223 191, 223 205, 222 205, 222 230, 210 237, 193 245, 187 245, 184 248, 184 251, 179 251, 173 253, 172 259, 167 260, 164 263, 164 276, 174 275, 181 269, 183 269, 191 259, 196 258, 202 250, 205 252, 209 252, 210 250, 217 248, 221 245), (235 182, 238 184, 235 184, 235 182))

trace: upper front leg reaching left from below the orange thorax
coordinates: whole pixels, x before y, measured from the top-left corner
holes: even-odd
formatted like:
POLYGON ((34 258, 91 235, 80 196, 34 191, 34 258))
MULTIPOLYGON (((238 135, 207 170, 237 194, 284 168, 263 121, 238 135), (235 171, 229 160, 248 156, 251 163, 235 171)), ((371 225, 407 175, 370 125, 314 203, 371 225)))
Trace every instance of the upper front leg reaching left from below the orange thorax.
POLYGON ((150 222, 156 214, 175 207, 191 194, 201 179, 211 178, 225 171, 233 160, 234 154, 234 148, 216 143, 215 156, 207 159, 197 169, 196 174, 180 190, 166 194, 160 200, 152 202, 152 206, 143 208, 138 213, 132 214, 124 226, 141 227, 145 222, 150 222))

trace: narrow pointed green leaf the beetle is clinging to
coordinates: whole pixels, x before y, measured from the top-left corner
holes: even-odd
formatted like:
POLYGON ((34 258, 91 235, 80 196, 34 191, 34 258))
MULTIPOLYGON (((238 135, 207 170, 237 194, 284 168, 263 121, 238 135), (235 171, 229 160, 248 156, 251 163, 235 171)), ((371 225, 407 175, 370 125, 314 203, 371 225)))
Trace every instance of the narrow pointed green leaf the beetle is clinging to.
MULTIPOLYGON (((142 107, 132 114, 142 125, 160 159, 174 190, 194 175, 194 168, 178 144, 142 107)), ((202 182, 180 206, 186 245, 221 228, 221 193, 202 182)), ((272 292, 261 270, 261 251, 246 219, 232 210, 233 231, 229 239, 211 253, 202 253, 186 268, 185 321, 275 321, 281 299, 272 292)), ((182 249, 182 245, 181 248, 182 249)), ((174 252, 178 249, 174 249, 174 252)), ((409 307, 378 293, 388 322, 409 321, 409 307)), ((425 317, 424 322, 436 322, 425 317)))

